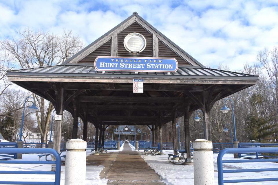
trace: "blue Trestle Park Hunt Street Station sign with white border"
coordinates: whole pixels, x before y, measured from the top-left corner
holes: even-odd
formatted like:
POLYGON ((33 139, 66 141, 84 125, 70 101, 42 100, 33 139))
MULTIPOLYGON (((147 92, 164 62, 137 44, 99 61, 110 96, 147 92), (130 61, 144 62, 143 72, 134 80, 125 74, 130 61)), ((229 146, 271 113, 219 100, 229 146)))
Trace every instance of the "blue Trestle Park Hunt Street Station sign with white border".
POLYGON ((97 71, 176 72, 175 58, 101 57, 95 60, 97 71))

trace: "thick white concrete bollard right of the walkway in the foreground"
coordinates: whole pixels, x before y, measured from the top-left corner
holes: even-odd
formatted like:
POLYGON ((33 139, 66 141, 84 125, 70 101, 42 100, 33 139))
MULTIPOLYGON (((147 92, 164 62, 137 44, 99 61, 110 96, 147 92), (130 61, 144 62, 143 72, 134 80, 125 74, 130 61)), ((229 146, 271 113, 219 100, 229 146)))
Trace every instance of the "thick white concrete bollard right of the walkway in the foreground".
POLYGON ((213 185, 212 142, 205 139, 193 141, 194 148, 194 184, 213 185))

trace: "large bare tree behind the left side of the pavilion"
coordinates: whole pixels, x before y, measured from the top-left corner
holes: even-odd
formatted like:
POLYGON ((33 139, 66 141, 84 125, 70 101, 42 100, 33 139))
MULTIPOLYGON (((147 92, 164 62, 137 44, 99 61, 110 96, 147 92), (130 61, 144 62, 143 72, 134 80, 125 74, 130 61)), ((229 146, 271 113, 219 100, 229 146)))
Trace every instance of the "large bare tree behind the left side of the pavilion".
MULTIPOLYGON (((43 30, 24 29, 15 37, 0 41, 7 62, 14 62, 22 68, 43 67, 61 64, 77 53, 83 44, 72 31, 63 30, 61 36, 43 30)), ((49 121, 54 109, 52 103, 33 94, 39 111, 37 123, 41 132, 41 142, 47 141, 49 121)))

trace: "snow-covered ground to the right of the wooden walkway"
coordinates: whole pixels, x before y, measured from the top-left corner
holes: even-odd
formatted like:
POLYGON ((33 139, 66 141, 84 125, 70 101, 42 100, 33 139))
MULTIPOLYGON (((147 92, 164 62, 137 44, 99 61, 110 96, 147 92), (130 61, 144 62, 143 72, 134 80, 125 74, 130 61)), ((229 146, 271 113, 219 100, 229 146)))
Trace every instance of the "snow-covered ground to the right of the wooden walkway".
MULTIPOLYGON (((132 146, 133 147, 133 146, 132 146)), ((133 147, 134 148, 134 147, 133 147)), ((135 149, 135 148, 134 148, 135 149)), ((139 150, 142 158, 147 164, 155 170, 155 172, 162 177, 162 179, 169 185, 174 184, 194 184, 193 164, 183 165, 173 164, 168 161, 168 154, 173 153, 173 150, 163 150, 164 155, 146 156, 144 150, 139 150)), ((218 184, 217 176, 217 156, 213 154, 214 162, 214 178, 215 184, 218 184)), ((233 160, 233 154, 226 154, 223 160, 233 160)), ((248 159, 246 159, 248 160, 248 159)), ((226 163, 223 164, 223 170, 231 169, 258 169, 258 168, 278 168, 278 163, 273 162, 250 162, 250 163, 226 163)), ((255 178, 274 178, 278 177, 277 171, 267 172, 250 172, 250 173, 224 173, 224 180, 232 179, 255 179, 255 178)), ((229 183, 229 185, 262 185, 262 184, 278 184, 277 181, 272 182, 245 182, 245 183, 229 183)))

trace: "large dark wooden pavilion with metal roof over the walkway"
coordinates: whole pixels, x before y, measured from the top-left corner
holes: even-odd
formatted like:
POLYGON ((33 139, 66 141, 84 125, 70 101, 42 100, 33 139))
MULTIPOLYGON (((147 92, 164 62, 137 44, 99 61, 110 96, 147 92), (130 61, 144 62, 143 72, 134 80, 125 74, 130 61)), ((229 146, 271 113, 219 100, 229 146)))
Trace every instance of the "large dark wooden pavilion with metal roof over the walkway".
MULTIPOLYGON (((139 37, 133 38, 135 43, 139 37)), ((184 116, 187 151, 190 150, 189 118, 192 112, 202 110, 205 138, 211 140, 209 112, 213 104, 258 80, 258 75, 204 67, 136 12, 61 65, 12 70, 7 71, 7 75, 15 84, 51 101, 56 114, 69 111, 74 118, 72 138, 77 138, 80 117, 84 123, 84 140, 88 122, 96 127, 96 145, 98 136, 103 142, 104 130, 109 125, 126 124, 150 127, 157 145, 162 143, 162 125, 172 121, 174 149, 177 149, 175 120, 184 116), (144 38, 138 41, 139 47, 144 42, 140 52, 130 51, 129 43, 124 43, 131 33, 144 38), (178 70, 97 71, 94 67, 97 56, 175 58, 178 70), (143 93, 133 93, 134 78, 144 79, 143 93)), ((57 151, 60 149, 61 124, 62 121, 55 124, 54 149, 57 151)), ((187 152, 187 158, 190 158, 190 152, 187 152)))

